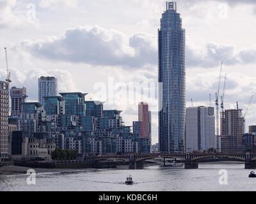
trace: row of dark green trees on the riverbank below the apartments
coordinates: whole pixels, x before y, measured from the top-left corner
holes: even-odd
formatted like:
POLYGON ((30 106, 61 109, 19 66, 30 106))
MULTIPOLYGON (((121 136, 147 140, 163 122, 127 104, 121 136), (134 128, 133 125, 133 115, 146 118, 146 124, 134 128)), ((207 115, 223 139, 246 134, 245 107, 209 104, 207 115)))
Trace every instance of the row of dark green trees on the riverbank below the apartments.
POLYGON ((77 156, 77 150, 60 148, 56 148, 56 150, 54 150, 54 152, 51 154, 51 157, 54 160, 75 160, 77 159, 77 156))

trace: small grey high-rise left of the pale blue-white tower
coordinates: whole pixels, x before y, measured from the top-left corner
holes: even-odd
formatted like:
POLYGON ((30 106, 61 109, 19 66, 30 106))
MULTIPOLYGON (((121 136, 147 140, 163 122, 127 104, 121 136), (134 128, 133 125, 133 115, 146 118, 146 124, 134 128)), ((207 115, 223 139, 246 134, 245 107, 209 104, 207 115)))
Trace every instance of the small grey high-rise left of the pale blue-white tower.
POLYGON ((10 89, 10 98, 12 100, 12 110, 11 110, 11 116, 12 117, 20 117, 22 113, 22 103, 26 102, 27 98, 27 89, 25 87, 22 88, 16 88, 12 87, 10 89))

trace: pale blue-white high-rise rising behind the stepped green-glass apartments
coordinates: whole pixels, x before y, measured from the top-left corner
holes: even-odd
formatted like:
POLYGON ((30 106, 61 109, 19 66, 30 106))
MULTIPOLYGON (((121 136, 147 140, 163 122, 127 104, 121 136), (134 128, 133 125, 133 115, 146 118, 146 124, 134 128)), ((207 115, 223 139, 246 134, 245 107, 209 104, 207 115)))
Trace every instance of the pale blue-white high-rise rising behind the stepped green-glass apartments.
POLYGON ((57 96, 57 78, 40 77, 38 78, 38 101, 42 106, 45 105, 44 97, 57 96))

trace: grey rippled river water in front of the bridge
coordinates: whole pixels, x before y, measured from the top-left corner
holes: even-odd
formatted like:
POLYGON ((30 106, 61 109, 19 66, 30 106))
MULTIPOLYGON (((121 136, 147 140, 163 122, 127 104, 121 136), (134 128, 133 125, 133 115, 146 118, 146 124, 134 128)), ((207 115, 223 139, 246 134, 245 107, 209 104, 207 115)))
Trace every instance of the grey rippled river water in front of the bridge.
POLYGON ((87 169, 37 173, 36 184, 30 186, 27 175, 1 175, 0 191, 256 191, 256 178, 248 178, 250 171, 236 162, 201 163, 196 170, 87 169), (227 185, 219 182, 220 170, 227 170, 227 185), (124 184, 129 174, 134 180, 131 186, 124 184))

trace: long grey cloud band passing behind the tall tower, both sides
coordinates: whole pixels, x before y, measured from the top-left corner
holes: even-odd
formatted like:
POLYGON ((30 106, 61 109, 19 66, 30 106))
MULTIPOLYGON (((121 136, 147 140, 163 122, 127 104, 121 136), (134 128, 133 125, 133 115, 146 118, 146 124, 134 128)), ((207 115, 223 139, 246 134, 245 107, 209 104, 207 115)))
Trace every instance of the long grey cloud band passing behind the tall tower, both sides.
MULTIPOLYGON (((122 66, 125 69, 157 66, 156 37, 150 34, 126 36, 94 25, 76 27, 62 36, 44 40, 23 41, 22 48, 32 55, 51 61, 68 61, 94 66, 122 66)), ((256 47, 240 52, 233 45, 207 43, 204 47, 186 47, 188 68, 213 68, 221 61, 227 65, 255 62, 256 47)))

